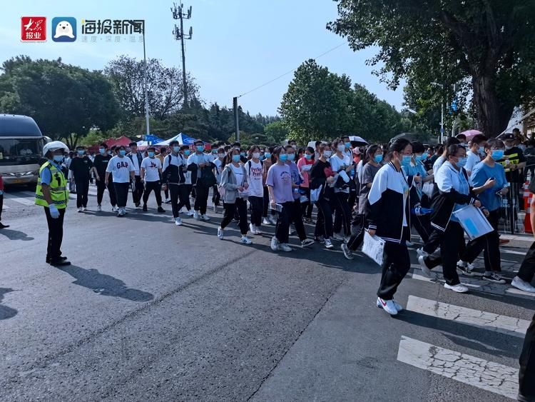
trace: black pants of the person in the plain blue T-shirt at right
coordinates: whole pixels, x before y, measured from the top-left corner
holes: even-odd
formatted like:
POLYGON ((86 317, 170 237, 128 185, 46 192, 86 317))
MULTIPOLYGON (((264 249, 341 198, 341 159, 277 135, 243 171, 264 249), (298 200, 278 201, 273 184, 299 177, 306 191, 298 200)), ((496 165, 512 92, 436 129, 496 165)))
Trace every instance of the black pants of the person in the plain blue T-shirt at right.
POLYGON ((491 211, 487 220, 494 228, 494 231, 487 233, 485 236, 474 238, 467 244, 466 251, 462 254, 462 261, 472 263, 477 256, 483 251, 483 258, 485 261, 485 271, 500 272, 501 271, 501 256, 500 256, 500 238, 498 233, 499 210, 491 211))

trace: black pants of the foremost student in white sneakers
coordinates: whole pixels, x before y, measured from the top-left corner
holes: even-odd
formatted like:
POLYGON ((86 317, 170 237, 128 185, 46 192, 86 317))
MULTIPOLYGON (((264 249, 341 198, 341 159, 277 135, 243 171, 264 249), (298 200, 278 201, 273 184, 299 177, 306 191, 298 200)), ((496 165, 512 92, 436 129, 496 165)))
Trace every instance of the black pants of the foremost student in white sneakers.
POLYGON ((407 245, 403 243, 384 243, 382 276, 377 296, 384 300, 392 300, 399 283, 411 267, 411 259, 407 245))

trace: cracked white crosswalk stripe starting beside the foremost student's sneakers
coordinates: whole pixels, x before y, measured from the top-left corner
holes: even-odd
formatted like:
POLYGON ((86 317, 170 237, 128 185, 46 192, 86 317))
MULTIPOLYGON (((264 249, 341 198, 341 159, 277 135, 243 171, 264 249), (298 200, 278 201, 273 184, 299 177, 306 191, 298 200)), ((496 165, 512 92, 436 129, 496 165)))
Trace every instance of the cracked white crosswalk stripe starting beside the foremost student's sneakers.
POLYGON ((524 338, 530 323, 530 321, 519 318, 487 313, 486 311, 474 310, 473 308, 454 306, 453 304, 441 303, 412 295, 409 296, 407 310, 425 314, 426 316, 467 323, 521 338, 524 338))

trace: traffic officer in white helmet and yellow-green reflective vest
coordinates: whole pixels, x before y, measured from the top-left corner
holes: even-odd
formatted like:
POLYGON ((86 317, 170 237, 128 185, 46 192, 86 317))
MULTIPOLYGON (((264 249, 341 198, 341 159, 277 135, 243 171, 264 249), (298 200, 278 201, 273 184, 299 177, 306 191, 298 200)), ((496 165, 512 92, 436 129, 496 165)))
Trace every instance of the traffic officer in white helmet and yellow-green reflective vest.
POLYGON ((67 179, 61 170, 63 151, 68 152, 68 147, 61 141, 52 141, 44 146, 43 156, 47 161, 39 169, 35 194, 35 203, 44 207, 49 225, 46 262, 51 266, 71 265, 66 257, 61 256, 63 216, 68 201, 67 179))

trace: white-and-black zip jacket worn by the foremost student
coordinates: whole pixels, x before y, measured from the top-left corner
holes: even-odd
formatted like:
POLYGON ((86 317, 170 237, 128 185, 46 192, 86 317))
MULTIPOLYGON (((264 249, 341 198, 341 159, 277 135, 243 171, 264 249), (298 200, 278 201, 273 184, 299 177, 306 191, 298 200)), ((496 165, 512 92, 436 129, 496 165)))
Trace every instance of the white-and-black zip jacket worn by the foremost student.
POLYGON ((410 195, 403 206, 404 192, 409 184, 403 171, 394 164, 382 166, 375 175, 366 201, 366 221, 370 229, 385 241, 401 243, 404 238, 403 214, 410 228, 410 195))

